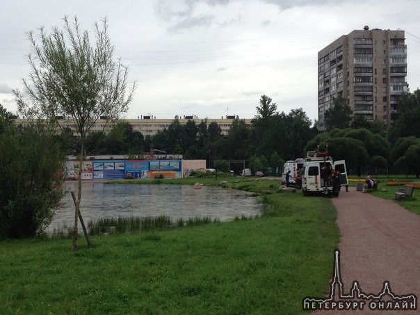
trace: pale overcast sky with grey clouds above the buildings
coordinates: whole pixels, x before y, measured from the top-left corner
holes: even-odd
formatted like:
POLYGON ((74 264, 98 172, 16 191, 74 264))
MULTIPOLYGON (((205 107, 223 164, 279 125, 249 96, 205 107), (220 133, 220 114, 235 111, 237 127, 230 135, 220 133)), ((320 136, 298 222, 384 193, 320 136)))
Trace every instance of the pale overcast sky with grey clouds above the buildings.
POLYGON ((95 40, 108 19, 115 58, 137 89, 124 118, 253 118, 261 95, 317 119, 318 51, 365 25, 402 29, 407 83, 420 87, 419 0, 6 0, 0 4, 0 104, 17 113, 26 33, 77 17, 95 40))

